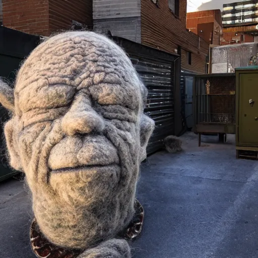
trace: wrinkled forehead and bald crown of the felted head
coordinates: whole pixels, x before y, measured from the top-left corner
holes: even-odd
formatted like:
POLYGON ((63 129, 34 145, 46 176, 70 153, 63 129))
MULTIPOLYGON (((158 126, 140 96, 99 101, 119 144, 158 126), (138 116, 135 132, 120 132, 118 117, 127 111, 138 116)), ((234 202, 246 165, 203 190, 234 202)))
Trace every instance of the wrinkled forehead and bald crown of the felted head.
POLYGON ((62 83, 80 89, 85 80, 87 86, 93 85, 89 78, 100 71, 113 73, 136 88, 144 87, 136 80, 131 60, 114 42, 91 32, 68 32, 50 38, 32 52, 18 74, 15 90, 19 93, 43 78, 50 84, 62 83))

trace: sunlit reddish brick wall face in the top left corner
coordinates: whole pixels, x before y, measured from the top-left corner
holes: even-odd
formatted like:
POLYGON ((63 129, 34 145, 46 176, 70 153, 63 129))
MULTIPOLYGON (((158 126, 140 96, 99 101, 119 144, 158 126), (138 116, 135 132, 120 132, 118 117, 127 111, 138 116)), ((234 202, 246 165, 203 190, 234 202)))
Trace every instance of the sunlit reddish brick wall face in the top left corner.
POLYGON ((3 0, 3 25, 48 36, 48 0, 3 0))

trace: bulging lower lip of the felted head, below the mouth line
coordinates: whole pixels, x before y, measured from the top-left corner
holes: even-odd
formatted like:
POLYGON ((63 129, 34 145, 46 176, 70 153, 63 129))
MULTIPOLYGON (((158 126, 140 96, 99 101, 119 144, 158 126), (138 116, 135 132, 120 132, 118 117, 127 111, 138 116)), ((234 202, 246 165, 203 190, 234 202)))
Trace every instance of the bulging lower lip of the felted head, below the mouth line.
MULTIPOLYGON (((60 168, 49 173, 49 184, 61 193, 62 198, 95 202, 104 196, 113 195, 121 178, 117 164, 60 168), (72 196, 72 197, 71 197, 72 196)), ((84 201, 83 201, 84 202, 84 201)))

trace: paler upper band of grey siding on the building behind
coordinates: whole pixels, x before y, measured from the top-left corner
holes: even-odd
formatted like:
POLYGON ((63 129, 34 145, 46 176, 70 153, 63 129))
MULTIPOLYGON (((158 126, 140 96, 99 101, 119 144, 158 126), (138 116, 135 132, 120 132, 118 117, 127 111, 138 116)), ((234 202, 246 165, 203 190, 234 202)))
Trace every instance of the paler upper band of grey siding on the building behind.
POLYGON ((140 0, 93 0, 93 19, 141 17, 140 0))

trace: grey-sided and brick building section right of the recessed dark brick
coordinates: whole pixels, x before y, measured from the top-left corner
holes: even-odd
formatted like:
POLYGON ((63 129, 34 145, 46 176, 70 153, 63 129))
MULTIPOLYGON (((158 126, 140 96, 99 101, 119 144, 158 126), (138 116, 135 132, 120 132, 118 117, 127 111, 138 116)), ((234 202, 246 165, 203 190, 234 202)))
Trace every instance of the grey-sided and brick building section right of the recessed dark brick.
POLYGON ((209 43, 186 30, 187 0, 93 0, 94 30, 181 55, 184 70, 205 73, 209 43))

